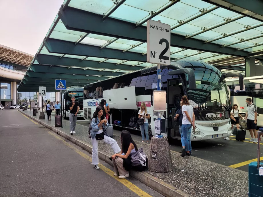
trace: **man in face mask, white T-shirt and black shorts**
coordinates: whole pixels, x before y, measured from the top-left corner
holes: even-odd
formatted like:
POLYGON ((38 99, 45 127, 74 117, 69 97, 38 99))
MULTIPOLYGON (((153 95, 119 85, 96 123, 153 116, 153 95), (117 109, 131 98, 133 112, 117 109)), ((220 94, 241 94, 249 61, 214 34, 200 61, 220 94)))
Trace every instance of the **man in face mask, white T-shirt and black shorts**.
POLYGON ((251 135, 250 142, 258 143, 257 139, 257 106, 252 103, 251 98, 246 98, 247 112, 245 119, 248 121, 248 129, 251 135), (254 136, 254 137, 253 137, 254 136))

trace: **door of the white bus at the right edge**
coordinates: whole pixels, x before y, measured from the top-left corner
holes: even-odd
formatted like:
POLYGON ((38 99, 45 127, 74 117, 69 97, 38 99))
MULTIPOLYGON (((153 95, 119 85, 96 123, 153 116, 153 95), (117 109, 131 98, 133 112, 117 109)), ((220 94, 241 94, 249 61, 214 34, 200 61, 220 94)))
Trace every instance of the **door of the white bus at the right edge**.
POLYGON ((263 89, 252 89, 252 103, 257 106, 257 126, 263 126, 263 89))

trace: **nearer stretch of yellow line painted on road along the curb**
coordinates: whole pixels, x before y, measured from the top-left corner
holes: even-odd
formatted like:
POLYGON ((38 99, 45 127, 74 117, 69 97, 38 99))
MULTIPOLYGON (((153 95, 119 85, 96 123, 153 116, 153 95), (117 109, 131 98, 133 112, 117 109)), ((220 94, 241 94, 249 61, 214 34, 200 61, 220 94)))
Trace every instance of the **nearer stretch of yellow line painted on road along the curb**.
MULTIPOLYGON (((90 156, 88 156, 87 154, 81 152, 79 149, 75 148, 74 146, 72 146, 71 144, 67 143, 65 140, 61 139, 59 136, 57 136, 57 134, 51 133, 49 130, 47 130, 49 134, 51 134, 52 136, 54 136, 55 138, 57 138, 58 140, 61 140, 63 142, 63 144, 65 144, 66 146, 72 148, 73 150, 75 150, 75 152, 77 152, 79 155, 81 155, 82 157, 84 157, 85 159, 87 159, 88 161, 92 162, 92 158, 90 156)), ((112 170, 110 170, 109 168, 107 168, 106 166, 103 166, 102 164, 99 163, 99 168, 101 170, 103 170, 104 172, 106 172, 109 176, 111 176, 112 178, 116 179, 117 181, 119 181, 120 183, 122 183, 124 186, 126 186, 127 188, 129 188, 130 190, 132 190, 134 193, 136 193, 138 196, 144 196, 144 197, 150 197, 150 195, 147 192, 144 192, 143 190, 141 190, 140 188, 138 188, 137 186, 135 186, 133 183, 129 182, 128 180, 126 180, 125 178, 118 178, 117 176, 114 176, 114 172, 112 170)))

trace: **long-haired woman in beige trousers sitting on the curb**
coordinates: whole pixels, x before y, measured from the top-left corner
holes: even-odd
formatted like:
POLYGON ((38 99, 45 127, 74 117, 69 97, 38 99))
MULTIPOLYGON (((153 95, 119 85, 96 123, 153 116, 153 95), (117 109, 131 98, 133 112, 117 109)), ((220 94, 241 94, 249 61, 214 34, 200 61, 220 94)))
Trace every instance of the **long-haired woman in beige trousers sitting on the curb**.
POLYGON ((112 161, 113 161, 113 166, 115 169, 115 174, 114 176, 119 176, 119 178, 127 178, 129 177, 129 172, 125 169, 125 164, 130 165, 128 168, 131 168, 131 155, 135 154, 138 151, 138 148, 135 144, 135 142, 132 140, 132 136, 129 133, 129 131, 122 131, 121 132, 121 152, 120 154, 114 154, 111 156, 112 161), (124 162, 123 166, 123 161, 128 160, 127 162, 124 162))

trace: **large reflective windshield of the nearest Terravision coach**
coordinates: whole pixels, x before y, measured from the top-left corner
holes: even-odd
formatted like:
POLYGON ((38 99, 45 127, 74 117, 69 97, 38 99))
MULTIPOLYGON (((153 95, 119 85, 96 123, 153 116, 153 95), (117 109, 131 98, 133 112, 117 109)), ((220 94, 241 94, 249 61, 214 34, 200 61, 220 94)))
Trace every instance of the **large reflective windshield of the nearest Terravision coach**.
POLYGON ((222 109, 223 106, 229 106, 228 88, 224 77, 220 76, 220 73, 212 70, 195 70, 194 72, 196 90, 188 89, 188 98, 195 109, 222 109))

